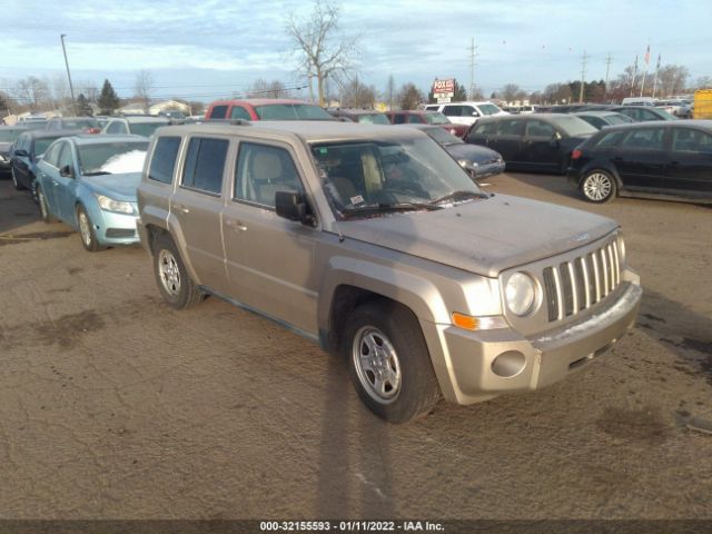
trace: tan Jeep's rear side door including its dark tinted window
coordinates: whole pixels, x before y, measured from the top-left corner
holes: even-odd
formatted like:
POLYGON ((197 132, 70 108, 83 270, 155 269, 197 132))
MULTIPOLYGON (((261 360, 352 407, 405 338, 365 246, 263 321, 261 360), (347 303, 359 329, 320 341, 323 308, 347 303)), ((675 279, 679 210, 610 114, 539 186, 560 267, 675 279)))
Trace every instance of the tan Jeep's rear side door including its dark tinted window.
POLYGON ((170 199, 198 283, 218 293, 228 290, 220 220, 229 146, 226 137, 189 137, 180 185, 170 199))

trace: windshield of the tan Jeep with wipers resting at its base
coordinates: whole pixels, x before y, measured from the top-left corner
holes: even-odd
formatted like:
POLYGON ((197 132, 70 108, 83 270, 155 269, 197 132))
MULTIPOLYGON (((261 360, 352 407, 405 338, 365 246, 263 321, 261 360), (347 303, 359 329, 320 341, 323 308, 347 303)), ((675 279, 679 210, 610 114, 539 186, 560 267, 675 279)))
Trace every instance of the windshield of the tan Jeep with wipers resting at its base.
POLYGON ((339 219, 390 209, 439 209, 484 196, 429 138, 319 144, 312 146, 312 155, 339 219))

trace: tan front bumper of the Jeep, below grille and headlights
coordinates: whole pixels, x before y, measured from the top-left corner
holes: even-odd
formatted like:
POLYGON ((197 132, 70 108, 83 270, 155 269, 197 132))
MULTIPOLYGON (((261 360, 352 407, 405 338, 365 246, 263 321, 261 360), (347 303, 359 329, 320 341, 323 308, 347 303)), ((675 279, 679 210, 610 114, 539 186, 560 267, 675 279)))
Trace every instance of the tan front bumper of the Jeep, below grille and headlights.
POLYGON ((642 297, 636 276, 631 273, 611 297, 594 315, 532 338, 511 328, 468 332, 429 325, 424 332, 443 395, 449 402, 473 404, 564 379, 634 326, 642 297), (495 373, 494 362, 502 355, 521 362, 518 372, 506 377, 495 373))

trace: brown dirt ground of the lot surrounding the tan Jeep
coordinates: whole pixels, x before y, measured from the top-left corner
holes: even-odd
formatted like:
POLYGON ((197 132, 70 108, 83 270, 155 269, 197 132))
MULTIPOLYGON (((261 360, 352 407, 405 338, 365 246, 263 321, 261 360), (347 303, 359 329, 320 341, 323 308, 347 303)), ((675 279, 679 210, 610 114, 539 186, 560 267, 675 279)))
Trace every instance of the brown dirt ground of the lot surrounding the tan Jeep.
POLYGON ((617 219, 639 326, 564 383, 393 426, 338 358, 217 298, 170 309, 141 248, 86 253, 0 180, 0 517, 712 517, 686 427, 712 421, 712 209, 488 182, 617 219))

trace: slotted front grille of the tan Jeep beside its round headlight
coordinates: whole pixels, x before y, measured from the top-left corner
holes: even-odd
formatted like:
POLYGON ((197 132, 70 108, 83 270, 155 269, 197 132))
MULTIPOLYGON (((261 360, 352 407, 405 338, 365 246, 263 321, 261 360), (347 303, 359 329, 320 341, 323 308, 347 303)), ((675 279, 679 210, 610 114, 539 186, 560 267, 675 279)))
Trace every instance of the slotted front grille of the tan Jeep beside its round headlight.
POLYGON ((593 253, 543 271, 548 320, 561 320, 603 300, 621 284, 621 257, 615 240, 593 253))

